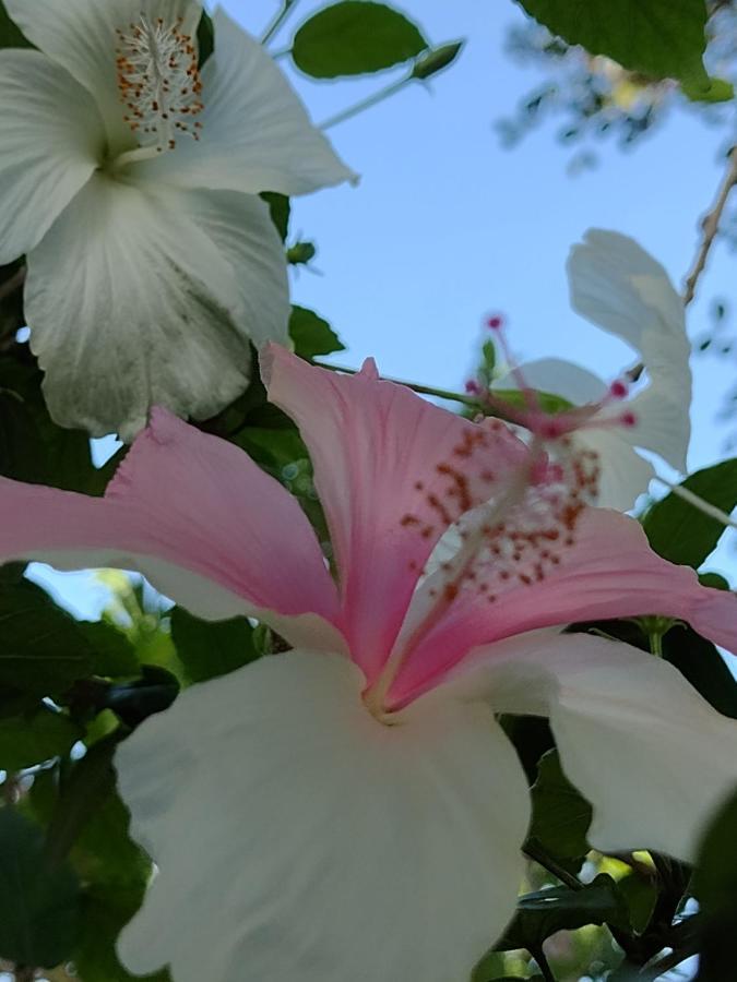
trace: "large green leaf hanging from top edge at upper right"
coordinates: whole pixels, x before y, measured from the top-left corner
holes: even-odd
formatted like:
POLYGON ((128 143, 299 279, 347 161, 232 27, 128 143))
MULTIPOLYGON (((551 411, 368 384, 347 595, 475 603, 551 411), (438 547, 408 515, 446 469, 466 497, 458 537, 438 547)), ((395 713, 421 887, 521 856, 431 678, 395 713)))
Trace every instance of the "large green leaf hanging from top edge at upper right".
POLYGON ((656 79, 678 79, 708 92, 704 0, 518 0, 569 45, 606 55, 656 79))

